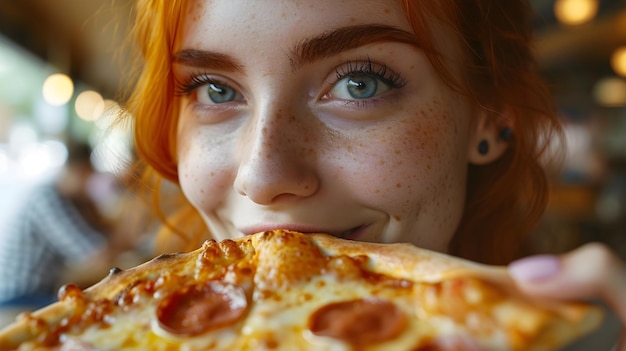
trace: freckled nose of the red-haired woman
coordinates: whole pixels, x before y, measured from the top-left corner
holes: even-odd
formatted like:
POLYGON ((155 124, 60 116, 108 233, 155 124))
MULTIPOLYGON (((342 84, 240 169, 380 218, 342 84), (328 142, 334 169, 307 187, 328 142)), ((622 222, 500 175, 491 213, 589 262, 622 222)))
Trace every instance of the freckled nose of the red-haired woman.
POLYGON ((315 138, 305 135, 301 119, 287 115, 271 107, 259 111, 240 140, 234 186, 255 203, 304 198, 318 190, 315 138))

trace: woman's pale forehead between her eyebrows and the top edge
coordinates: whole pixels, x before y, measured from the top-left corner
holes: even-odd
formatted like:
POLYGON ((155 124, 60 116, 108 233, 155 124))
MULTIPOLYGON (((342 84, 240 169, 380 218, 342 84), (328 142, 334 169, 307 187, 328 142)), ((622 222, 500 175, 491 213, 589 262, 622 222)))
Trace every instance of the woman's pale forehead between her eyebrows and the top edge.
POLYGON ((270 37, 290 42, 321 32, 362 24, 385 24, 411 31, 399 0, 192 0, 185 7, 178 47, 207 43, 250 45, 270 37))

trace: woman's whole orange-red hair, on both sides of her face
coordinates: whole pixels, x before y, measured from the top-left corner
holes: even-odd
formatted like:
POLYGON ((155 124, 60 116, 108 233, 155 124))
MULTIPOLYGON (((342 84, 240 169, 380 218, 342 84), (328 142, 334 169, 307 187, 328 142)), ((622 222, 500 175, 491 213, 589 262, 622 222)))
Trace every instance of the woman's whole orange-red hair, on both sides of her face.
MULTIPOLYGON (((490 111, 496 124, 512 126, 510 147, 498 161, 469 166, 466 207, 450 243, 450 253, 487 263, 506 263, 520 247, 547 202, 541 160, 547 143, 560 135, 552 98, 536 71, 532 55, 532 13, 526 1, 404 0, 409 22, 431 64, 454 90, 490 111), (450 72, 437 50, 433 21, 455 35, 463 50, 464 76, 450 72), (506 122, 506 123, 505 123, 506 122)), ((144 60, 127 104, 135 116, 135 140, 148 173, 178 183, 172 54, 182 0, 139 0, 135 39, 144 60)), ((158 189, 155 190, 158 194, 158 189)), ((169 223, 186 243, 171 249, 193 249, 209 234, 184 199, 169 223), (192 227, 192 228, 190 228, 192 227)), ((166 237, 166 240, 170 240, 166 237)), ((173 239, 172 239, 173 240, 173 239)))

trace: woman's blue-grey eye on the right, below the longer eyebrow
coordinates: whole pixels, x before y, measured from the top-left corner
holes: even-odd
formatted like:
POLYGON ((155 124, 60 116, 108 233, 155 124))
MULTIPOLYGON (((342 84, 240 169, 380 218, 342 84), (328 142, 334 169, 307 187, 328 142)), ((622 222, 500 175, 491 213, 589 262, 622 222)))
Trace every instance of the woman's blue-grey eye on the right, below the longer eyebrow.
POLYGON ((355 74, 339 80, 329 94, 342 100, 370 99, 391 89, 373 74, 355 74))

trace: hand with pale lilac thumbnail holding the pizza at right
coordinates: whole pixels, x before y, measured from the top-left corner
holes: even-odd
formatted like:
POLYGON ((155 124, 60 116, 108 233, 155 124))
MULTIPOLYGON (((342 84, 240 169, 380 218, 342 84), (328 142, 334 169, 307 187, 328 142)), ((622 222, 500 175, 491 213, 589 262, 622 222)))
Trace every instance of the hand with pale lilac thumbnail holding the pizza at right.
MULTIPOLYGON (((515 261, 509 272, 519 288, 537 297, 601 298, 626 326, 626 265, 605 245, 586 244, 561 256, 538 255, 515 261)), ((617 351, 626 351, 622 329, 617 351)))

